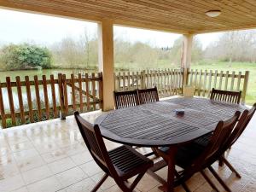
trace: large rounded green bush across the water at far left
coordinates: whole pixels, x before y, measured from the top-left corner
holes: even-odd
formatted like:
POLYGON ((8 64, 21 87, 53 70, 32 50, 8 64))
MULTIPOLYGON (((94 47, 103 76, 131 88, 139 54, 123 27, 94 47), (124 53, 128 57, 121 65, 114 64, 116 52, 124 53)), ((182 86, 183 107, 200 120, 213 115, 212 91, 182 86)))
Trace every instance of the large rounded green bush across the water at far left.
POLYGON ((0 59, 6 70, 49 68, 51 65, 49 49, 32 44, 5 45, 0 59))

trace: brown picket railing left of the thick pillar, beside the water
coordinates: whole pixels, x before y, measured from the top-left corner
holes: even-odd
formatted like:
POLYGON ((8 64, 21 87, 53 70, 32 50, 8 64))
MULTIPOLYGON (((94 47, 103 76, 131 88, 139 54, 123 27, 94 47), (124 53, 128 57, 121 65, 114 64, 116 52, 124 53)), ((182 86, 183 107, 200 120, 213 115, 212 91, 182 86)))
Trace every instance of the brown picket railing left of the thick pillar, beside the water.
POLYGON ((21 81, 9 77, 0 83, 0 114, 3 128, 45 119, 65 118, 75 110, 80 112, 102 108, 102 73, 78 76, 58 74, 55 79, 45 75, 21 81))

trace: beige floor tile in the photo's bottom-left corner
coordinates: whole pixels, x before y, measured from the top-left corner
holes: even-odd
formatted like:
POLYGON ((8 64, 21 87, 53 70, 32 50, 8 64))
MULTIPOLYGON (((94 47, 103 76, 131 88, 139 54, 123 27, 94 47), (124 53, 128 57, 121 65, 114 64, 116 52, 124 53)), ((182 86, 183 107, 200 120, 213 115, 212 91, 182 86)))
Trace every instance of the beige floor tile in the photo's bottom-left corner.
POLYGON ((21 187, 25 187, 25 183, 20 174, 0 180, 1 192, 9 192, 15 189, 20 189, 21 187))

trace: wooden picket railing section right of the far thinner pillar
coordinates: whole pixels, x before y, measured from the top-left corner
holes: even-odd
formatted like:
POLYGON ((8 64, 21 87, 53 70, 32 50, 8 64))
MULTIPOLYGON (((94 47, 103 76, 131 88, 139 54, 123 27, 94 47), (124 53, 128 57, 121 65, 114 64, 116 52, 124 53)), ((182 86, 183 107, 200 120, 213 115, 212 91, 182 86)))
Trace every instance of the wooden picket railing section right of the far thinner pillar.
POLYGON ((187 72, 187 84, 195 87, 195 96, 210 97, 212 88, 242 91, 241 102, 245 102, 249 72, 193 70, 187 72))

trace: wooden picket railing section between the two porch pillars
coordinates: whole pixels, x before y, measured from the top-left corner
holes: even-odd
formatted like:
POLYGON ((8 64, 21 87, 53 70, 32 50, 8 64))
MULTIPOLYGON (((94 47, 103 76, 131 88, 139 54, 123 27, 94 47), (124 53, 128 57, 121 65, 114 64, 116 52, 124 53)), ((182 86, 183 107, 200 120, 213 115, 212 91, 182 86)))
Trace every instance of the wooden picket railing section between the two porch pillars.
POLYGON ((114 79, 117 91, 157 86, 160 97, 178 95, 183 91, 183 69, 115 73, 114 79))

